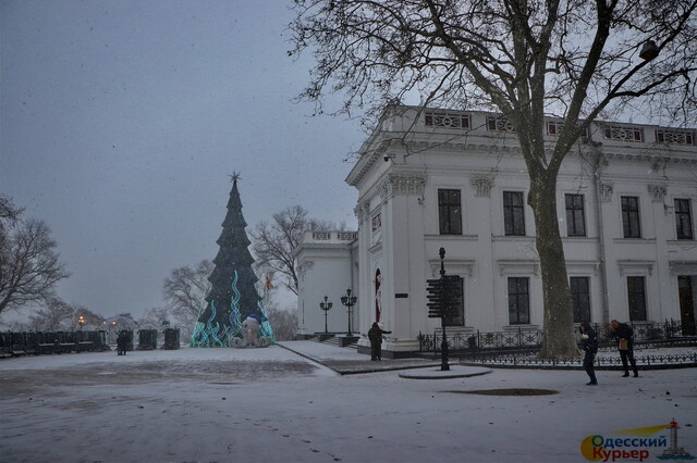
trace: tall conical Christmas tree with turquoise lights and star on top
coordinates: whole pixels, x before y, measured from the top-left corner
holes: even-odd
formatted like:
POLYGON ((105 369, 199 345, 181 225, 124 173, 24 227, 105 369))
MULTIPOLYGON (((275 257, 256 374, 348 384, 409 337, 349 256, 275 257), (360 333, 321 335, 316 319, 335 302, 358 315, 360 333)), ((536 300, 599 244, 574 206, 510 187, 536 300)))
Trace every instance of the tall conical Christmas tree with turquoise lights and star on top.
POLYGON ((208 277, 211 284, 206 296, 206 309, 201 311, 194 327, 191 347, 243 346, 242 325, 250 315, 260 320, 261 345, 274 343, 273 329, 269 323, 261 297, 256 289, 259 280, 252 270, 254 258, 248 247, 252 243, 242 215, 242 201, 237 190, 240 175, 231 175, 232 190, 228 201, 228 213, 218 238, 216 267, 208 277))

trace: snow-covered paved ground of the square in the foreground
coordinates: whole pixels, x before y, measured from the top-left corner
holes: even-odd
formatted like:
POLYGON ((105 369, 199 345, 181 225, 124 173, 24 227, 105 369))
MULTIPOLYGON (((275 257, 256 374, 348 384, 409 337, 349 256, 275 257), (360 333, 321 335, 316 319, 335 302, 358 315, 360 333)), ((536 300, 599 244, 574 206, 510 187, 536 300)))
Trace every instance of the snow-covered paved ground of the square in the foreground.
MULTIPOLYGON (((360 361, 348 349, 284 345, 360 361)), ((696 368, 601 371, 597 387, 579 371, 399 373, 340 376, 278 346, 2 360, 0 461, 583 462, 587 436, 672 418, 697 455, 696 368), (558 393, 465 393, 499 388, 558 393)))

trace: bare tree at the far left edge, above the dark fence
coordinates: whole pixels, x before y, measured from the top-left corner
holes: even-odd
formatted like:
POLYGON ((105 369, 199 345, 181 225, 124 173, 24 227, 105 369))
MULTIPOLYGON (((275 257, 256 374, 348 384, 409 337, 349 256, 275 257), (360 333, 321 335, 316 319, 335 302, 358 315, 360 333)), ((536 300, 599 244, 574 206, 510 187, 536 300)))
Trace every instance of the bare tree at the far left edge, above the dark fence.
POLYGON ((30 302, 49 303, 54 286, 70 275, 42 221, 19 221, 0 241, 0 312, 30 302))

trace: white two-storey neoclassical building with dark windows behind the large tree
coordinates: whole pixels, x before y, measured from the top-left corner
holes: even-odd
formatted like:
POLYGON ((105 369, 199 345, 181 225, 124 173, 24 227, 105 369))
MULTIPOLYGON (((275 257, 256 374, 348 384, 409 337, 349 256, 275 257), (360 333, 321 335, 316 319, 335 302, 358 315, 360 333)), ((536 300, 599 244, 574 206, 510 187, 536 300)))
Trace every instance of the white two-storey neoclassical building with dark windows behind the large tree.
MULTIPOLYGON (((562 124, 547 121, 550 143, 562 124)), ((696 135, 597 122, 567 155, 557 202, 577 323, 674 320, 694 329, 696 135)), ((368 345, 375 321, 392 331, 387 355, 416 351, 419 333, 439 329, 428 317, 426 281, 439 276, 441 247, 445 271, 460 276, 463 290, 449 333, 541 327, 528 174, 504 118, 391 107, 346 182, 358 190, 357 246, 337 242, 322 259, 345 249, 337 278, 350 278, 358 293, 359 346, 368 345)), ((316 241, 301 247, 301 265, 310 252, 321 254, 316 241)), ((333 280, 326 265, 306 267, 303 283, 319 278, 313 272, 333 280)), ((301 306, 308 304, 304 293, 317 305, 317 291, 302 288, 301 306)))

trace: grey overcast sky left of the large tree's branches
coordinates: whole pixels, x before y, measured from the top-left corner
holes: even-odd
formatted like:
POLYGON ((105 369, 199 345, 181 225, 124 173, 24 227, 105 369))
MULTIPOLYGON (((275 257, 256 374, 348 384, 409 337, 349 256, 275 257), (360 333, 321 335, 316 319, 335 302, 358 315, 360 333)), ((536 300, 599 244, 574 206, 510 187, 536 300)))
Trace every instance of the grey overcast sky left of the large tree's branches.
POLYGON ((163 306, 169 271, 212 260, 231 183, 249 226, 299 204, 354 228, 357 122, 291 100, 283 0, 0 0, 0 191, 48 223, 66 302, 163 306))

